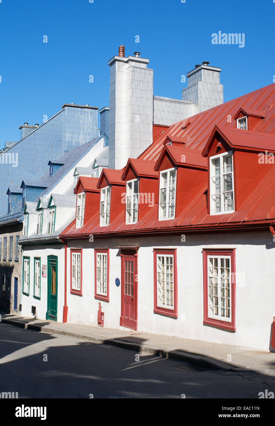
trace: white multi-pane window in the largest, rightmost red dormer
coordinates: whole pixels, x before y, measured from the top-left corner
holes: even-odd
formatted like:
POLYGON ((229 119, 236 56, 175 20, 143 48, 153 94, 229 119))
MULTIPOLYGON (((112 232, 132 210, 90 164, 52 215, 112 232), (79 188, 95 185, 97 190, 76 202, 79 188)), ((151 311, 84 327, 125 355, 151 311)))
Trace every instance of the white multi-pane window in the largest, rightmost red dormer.
POLYGON ((234 211, 232 152, 210 158, 210 212, 234 211))

